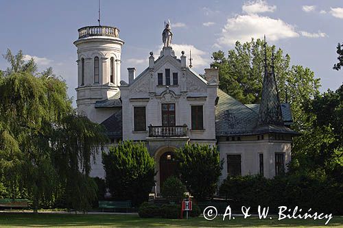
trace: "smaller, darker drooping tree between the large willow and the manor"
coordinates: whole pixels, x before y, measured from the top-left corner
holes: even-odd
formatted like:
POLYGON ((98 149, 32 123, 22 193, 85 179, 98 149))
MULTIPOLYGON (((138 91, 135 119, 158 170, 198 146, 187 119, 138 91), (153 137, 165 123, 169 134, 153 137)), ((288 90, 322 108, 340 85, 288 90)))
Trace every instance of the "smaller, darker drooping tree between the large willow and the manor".
POLYGON ((91 157, 108 142, 102 125, 91 122, 86 116, 69 114, 51 138, 54 166, 58 170, 58 183, 64 186, 67 205, 78 210, 91 208, 97 198, 97 185, 89 173, 91 157))

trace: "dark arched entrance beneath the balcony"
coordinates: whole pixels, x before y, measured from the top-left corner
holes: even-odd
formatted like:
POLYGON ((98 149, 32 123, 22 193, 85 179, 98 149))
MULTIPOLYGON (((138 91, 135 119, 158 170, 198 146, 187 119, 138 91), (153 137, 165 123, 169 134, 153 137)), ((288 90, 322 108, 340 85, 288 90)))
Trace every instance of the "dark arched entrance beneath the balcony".
POLYGON ((163 186, 163 182, 170 176, 176 175, 177 163, 175 155, 171 151, 163 153, 160 157, 160 189, 163 186))

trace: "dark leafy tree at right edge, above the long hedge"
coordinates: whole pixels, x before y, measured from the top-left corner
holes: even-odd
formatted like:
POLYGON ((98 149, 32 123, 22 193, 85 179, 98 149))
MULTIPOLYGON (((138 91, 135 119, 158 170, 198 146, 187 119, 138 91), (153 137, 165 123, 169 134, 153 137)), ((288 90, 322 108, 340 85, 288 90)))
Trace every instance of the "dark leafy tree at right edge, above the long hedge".
POLYGON ((309 128, 294 144, 294 170, 322 170, 343 181, 343 85, 305 105, 309 128))

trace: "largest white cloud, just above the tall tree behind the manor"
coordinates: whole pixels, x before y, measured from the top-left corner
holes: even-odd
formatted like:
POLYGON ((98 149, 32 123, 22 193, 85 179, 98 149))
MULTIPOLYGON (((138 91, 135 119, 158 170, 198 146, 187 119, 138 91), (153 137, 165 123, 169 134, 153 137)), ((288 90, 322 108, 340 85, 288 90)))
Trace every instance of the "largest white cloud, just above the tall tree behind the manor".
POLYGON ((271 41, 299 36, 292 25, 285 23, 281 19, 248 14, 228 18, 217 41, 220 45, 231 46, 237 40, 247 42, 251 38, 263 38, 264 34, 271 41))

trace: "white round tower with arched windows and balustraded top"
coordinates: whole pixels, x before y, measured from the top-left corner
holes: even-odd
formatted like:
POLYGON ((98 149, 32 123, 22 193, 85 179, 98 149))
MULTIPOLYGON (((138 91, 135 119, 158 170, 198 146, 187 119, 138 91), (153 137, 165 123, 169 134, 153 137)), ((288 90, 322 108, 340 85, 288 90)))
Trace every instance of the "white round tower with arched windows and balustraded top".
POLYGON ((115 97, 119 92, 121 46, 119 29, 110 26, 87 26, 78 29, 78 113, 91 121, 101 121, 95 115, 95 102, 115 97))

